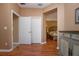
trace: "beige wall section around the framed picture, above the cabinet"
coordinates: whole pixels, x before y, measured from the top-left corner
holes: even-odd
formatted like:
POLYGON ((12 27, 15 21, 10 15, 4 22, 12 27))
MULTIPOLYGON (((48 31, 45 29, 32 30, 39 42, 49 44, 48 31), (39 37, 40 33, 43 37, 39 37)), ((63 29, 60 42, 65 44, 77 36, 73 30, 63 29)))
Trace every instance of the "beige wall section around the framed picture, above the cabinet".
POLYGON ((65 4, 64 30, 79 31, 79 24, 75 24, 75 9, 79 8, 78 3, 65 4))

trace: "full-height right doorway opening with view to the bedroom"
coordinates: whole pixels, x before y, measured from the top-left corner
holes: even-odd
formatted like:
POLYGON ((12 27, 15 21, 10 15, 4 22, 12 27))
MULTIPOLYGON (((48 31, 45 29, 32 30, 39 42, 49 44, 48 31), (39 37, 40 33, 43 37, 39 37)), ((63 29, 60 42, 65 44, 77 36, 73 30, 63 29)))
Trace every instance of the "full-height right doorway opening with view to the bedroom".
POLYGON ((57 46, 57 8, 44 13, 46 43, 55 42, 57 46))

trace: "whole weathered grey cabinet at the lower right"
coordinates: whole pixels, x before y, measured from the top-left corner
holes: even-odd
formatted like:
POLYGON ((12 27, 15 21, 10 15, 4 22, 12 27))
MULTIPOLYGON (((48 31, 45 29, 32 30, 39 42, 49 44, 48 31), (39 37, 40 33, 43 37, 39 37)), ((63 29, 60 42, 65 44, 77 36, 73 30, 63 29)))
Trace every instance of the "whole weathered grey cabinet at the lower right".
POLYGON ((79 33, 60 32, 59 47, 60 47, 60 55, 79 56, 79 33))

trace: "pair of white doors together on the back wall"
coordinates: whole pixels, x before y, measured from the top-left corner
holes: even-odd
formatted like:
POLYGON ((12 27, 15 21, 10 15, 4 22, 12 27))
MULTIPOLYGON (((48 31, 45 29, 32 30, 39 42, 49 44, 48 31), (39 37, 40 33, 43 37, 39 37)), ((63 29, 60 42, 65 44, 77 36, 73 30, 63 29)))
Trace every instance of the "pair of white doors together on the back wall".
POLYGON ((42 19, 40 16, 20 17, 21 44, 41 43, 42 19))

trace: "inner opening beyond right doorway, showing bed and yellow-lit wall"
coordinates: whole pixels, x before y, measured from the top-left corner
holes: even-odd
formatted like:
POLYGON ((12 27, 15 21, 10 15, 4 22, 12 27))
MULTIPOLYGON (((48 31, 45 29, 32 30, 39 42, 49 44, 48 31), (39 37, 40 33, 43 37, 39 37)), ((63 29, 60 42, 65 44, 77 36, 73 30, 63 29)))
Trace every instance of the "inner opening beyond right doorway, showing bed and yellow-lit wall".
POLYGON ((57 41, 57 21, 46 21, 46 41, 57 41))

